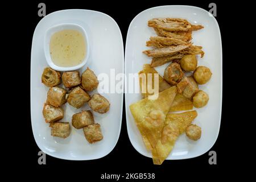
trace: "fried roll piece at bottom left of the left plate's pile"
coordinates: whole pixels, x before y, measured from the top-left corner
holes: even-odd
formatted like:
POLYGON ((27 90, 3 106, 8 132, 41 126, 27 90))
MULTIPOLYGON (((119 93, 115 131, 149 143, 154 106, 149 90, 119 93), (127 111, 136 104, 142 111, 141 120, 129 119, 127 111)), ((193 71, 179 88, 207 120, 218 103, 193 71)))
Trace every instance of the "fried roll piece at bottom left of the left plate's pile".
POLYGON ((54 122, 50 123, 51 135, 53 137, 67 138, 71 132, 69 122, 54 122))

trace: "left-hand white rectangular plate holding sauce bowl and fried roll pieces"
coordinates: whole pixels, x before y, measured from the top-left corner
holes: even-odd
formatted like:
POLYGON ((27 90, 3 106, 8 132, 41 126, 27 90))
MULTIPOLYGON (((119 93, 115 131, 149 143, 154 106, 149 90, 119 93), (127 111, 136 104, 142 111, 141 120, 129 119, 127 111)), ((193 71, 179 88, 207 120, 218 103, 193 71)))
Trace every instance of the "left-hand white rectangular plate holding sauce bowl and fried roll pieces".
MULTIPOLYGON (((100 142, 89 144, 82 129, 77 130, 72 125, 72 131, 68 138, 52 137, 51 129, 44 122, 42 109, 48 88, 41 83, 41 75, 43 69, 48 65, 44 57, 43 38, 49 27, 59 23, 79 24, 88 34, 89 62, 80 69, 80 74, 86 67, 92 69, 96 75, 106 73, 109 76, 112 68, 115 69, 115 74, 123 73, 124 69, 121 31, 110 16, 91 10, 63 10, 44 17, 36 26, 31 50, 31 123, 34 138, 40 150, 56 158, 68 160, 102 158, 113 150, 119 138, 122 121, 122 93, 103 93, 102 95, 110 102, 110 110, 105 114, 93 112, 94 119, 100 123, 104 135, 104 139, 100 142)), ((65 117, 61 121, 71 123, 73 114, 89 109, 89 106, 86 104, 80 109, 75 109, 69 104, 65 104, 63 108, 65 117)))

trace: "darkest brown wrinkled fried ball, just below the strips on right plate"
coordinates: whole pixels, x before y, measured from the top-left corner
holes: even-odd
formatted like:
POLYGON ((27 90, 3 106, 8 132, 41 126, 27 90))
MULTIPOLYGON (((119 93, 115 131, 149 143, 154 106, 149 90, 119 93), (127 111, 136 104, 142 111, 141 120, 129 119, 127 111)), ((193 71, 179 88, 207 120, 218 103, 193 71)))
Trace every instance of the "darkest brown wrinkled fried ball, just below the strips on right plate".
POLYGON ((177 85, 183 76, 184 73, 178 63, 171 63, 164 70, 164 79, 171 85, 177 85))

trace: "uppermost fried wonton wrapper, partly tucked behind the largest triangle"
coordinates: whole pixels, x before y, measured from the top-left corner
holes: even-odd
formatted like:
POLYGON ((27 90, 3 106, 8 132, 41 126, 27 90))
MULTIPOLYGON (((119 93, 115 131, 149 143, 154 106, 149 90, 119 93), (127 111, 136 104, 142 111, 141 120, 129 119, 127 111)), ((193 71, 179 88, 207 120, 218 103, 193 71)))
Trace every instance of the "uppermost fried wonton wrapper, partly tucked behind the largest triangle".
POLYGON ((154 74, 158 74, 158 89, 159 92, 162 92, 163 90, 166 90, 168 88, 170 88, 171 86, 163 79, 162 76, 159 75, 159 73, 154 69, 151 68, 149 64, 144 64, 143 65, 143 70, 141 72, 139 72, 139 87, 141 89, 141 94, 142 97, 148 97, 148 95, 152 95, 154 94, 154 92, 149 93, 148 92, 148 73, 152 74, 152 79, 151 79, 151 84, 152 84, 152 89, 155 89, 155 77, 154 74), (144 79, 144 80, 143 80, 144 79), (145 81, 145 82, 144 82, 145 81), (144 84, 144 85, 142 85, 144 84), (144 88, 142 89, 142 86, 144 86, 144 88))

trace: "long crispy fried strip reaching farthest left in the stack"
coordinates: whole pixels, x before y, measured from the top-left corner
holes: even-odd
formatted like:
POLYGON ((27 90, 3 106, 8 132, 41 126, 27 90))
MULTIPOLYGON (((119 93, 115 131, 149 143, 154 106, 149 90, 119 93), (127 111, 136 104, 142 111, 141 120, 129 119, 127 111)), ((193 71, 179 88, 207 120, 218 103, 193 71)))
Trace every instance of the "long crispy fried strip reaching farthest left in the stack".
POLYGON ((164 47, 159 49, 150 49, 150 50, 143 51, 143 53, 151 57, 172 56, 172 55, 175 55, 175 53, 185 48, 188 48, 189 46, 191 46, 191 43, 181 44, 178 46, 169 46, 169 47, 164 47))

